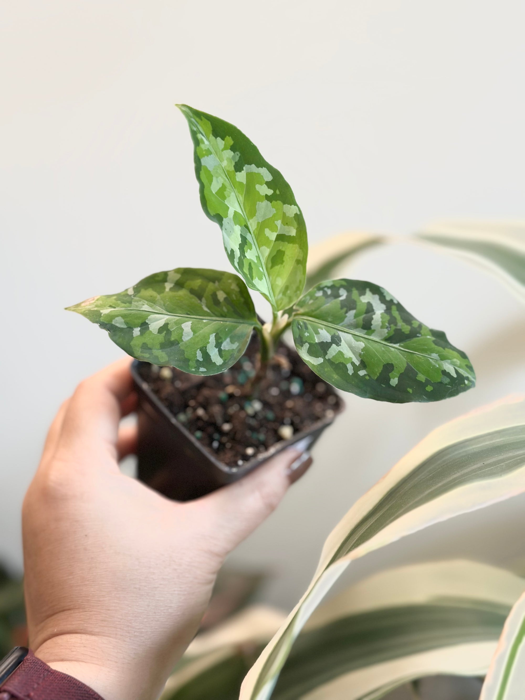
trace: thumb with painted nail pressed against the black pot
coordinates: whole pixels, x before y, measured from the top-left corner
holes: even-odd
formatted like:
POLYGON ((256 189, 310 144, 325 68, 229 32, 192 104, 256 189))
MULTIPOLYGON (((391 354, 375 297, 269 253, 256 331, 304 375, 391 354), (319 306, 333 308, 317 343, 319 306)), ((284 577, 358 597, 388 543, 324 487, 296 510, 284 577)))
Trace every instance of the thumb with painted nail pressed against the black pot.
POLYGON ((307 447, 311 437, 292 447, 239 479, 200 499, 207 511, 207 528, 224 556, 246 539, 281 502, 288 486, 311 465, 307 447))

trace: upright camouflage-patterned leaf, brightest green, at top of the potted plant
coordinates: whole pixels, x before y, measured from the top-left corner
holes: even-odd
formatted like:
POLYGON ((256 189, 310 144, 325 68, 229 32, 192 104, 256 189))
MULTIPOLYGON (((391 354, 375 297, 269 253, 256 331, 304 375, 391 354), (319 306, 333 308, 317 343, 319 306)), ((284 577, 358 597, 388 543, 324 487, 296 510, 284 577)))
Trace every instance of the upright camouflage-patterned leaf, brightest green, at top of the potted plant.
POLYGON ((279 170, 237 127, 185 104, 204 213, 216 221, 233 267, 274 309, 293 304, 306 276, 306 225, 279 170))

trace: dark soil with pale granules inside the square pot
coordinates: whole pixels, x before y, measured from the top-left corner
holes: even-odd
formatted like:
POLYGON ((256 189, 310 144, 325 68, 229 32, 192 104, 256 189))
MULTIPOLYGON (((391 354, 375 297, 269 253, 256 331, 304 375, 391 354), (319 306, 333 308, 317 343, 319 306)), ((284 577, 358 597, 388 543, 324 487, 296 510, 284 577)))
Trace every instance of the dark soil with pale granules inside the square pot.
POLYGON ((222 374, 198 377, 140 363, 139 374, 169 411, 221 462, 241 466, 281 440, 331 419, 342 400, 281 344, 264 379, 250 388, 258 342, 222 374))

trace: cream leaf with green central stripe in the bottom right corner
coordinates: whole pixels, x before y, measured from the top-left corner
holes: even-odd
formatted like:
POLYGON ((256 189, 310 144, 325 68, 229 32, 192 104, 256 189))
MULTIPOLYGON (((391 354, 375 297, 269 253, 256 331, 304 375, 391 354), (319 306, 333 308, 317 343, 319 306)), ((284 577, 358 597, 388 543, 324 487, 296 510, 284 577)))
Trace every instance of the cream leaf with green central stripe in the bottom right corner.
POLYGON ((525 594, 507 617, 479 700, 525 697, 525 594))

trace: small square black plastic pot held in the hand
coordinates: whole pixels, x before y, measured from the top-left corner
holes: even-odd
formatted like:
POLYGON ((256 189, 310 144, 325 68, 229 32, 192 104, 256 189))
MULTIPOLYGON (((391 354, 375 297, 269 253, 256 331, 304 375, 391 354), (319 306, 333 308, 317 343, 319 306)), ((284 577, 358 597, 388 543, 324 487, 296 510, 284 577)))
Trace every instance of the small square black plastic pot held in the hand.
MULTIPOLYGON (((199 498, 235 482, 301 440, 307 442, 309 449, 344 409, 338 396, 332 418, 321 419, 308 430, 295 433, 290 440, 276 442, 265 453, 258 454, 241 467, 230 467, 211 454, 176 420, 140 376, 140 365, 138 360, 132 364, 132 375, 139 395, 138 477, 155 491, 174 500, 199 498)), ((327 388, 327 395, 335 394, 330 386, 327 388)))

